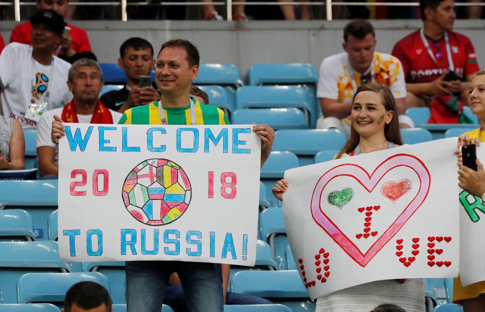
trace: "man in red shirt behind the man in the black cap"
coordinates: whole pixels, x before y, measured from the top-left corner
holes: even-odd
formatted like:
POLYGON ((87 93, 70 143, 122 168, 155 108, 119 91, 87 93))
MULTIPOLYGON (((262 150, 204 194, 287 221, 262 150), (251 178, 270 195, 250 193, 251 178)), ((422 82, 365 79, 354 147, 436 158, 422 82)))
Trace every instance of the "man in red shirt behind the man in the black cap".
MULTIPOLYGON (((36 0, 37 9, 39 10, 55 10, 61 14, 64 18, 67 13, 67 6, 69 0, 36 0)), ((86 31, 79 27, 71 24, 67 24, 71 30, 66 37, 63 37, 59 50, 57 47, 54 49, 54 53, 61 55, 65 54, 64 59, 72 57, 76 53, 80 52, 91 52, 91 45, 89 44, 89 39, 86 31)), ((15 26, 10 36, 10 42, 19 42, 25 44, 31 44, 31 23, 25 22, 23 24, 18 24, 15 26)))

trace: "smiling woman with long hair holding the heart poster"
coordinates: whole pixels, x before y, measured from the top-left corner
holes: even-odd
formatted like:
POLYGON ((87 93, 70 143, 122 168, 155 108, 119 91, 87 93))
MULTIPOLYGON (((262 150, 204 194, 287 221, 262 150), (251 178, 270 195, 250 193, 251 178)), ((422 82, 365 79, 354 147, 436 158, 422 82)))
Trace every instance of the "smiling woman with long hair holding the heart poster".
MULTIPOLYGON (((387 86, 367 83, 360 86, 352 101, 350 137, 335 159, 357 156, 403 145, 396 114, 396 101, 387 86)), ((284 179, 272 191, 283 200, 289 187, 284 179)), ((369 312, 383 303, 405 311, 424 310, 422 279, 378 280, 342 289, 317 299, 317 312, 369 312)))

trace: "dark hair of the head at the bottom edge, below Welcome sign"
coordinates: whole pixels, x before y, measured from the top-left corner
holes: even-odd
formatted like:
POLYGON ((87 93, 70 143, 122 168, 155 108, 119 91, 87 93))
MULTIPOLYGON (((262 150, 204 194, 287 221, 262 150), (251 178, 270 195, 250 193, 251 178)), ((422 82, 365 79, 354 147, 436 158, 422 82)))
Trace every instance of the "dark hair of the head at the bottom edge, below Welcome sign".
POLYGON ((65 294, 64 310, 70 312, 73 304, 84 310, 91 310, 100 307, 102 304, 106 306, 106 311, 111 311, 110 294, 103 286, 92 281, 81 281, 69 288, 65 294))

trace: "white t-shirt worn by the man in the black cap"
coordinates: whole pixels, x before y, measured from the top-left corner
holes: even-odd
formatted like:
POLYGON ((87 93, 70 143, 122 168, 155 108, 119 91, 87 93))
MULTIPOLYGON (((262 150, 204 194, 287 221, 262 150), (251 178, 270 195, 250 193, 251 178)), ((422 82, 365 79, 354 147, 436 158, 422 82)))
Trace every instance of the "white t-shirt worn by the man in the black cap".
POLYGON ((67 72, 71 67, 69 63, 57 56, 53 56, 50 66, 32 61, 32 46, 16 42, 7 45, 0 55, 0 78, 5 86, 1 93, 3 115, 16 119, 24 129, 37 127, 36 122, 25 118, 25 111, 32 99, 32 84, 39 90, 41 101, 47 97, 43 87, 48 85, 46 111, 63 107, 72 99, 72 93, 67 87, 67 72), (44 82, 41 79, 36 81, 36 76, 42 77, 44 82))

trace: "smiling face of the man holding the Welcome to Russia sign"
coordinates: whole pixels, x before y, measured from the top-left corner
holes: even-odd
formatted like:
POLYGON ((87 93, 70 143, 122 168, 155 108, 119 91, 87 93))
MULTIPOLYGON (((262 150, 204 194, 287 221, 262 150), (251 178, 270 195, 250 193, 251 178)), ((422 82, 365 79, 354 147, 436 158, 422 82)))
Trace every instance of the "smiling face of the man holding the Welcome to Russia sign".
POLYGON ((162 95, 178 96, 189 93, 192 81, 197 77, 199 66, 191 66, 183 48, 167 47, 157 58, 155 77, 162 95))

